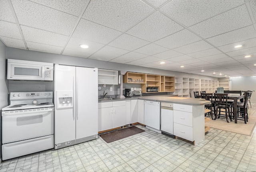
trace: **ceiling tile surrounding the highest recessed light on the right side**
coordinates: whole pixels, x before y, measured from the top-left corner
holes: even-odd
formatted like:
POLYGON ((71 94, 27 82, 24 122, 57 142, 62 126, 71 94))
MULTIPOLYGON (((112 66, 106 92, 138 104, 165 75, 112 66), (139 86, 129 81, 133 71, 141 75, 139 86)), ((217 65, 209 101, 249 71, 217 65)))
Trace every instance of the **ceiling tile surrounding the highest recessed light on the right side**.
POLYGON ((219 46, 218 48, 222 50, 223 52, 231 52, 231 51, 236 51, 236 50, 242 50, 250 47, 256 46, 256 38, 244 40, 244 41, 239 41, 233 44, 228 44, 224 46, 219 46), (240 48, 235 48, 237 45, 242 45, 240 48))

